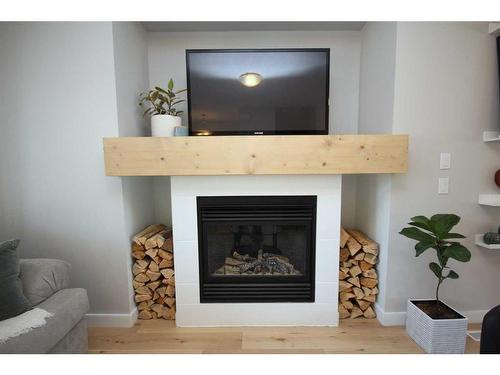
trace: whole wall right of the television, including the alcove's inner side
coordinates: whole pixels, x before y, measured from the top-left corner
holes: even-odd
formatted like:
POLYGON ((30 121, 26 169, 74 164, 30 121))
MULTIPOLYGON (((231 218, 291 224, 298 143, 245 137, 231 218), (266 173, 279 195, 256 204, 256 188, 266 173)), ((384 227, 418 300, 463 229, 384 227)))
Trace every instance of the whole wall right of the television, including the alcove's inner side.
POLYGON ((381 243, 382 320, 402 324, 406 299, 434 296, 436 280, 428 268, 433 251, 416 259, 415 242, 398 232, 414 215, 456 213, 462 217, 457 231, 468 237, 464 244, 472 260, 450 261, 460 278, 446 281, 441 297, 477 321, 500 301, 494 287, 500 282, 500 257, 474 245, 474 234, 500 224, 498 209, 477 203, 480 193, 498 191, 493 174, 500 145, 481 141, 484 130, 500 127, 495 39, 485 23, 398 23, 395 29, 367 24, 366 32, 371 35, 363 38, 360 132, 410 136, 407 174, 358 182, 357 224, 381 243), (375 50, 384 51, 383 56, 371 54, 375 50), (387 61, 389 54, 395 64, 387 61), (388 71, 382 72, 377 60, 385 60, 388 71), (393 89, 374 81, 377 77, 393 82, 393 89), (367 87, 371 81, 386 98, 367 87), (452 154, 449 171, 439 170, 441 152, 452 154), (448 195, 437 194, 439 177, 450 178, 448 195))

